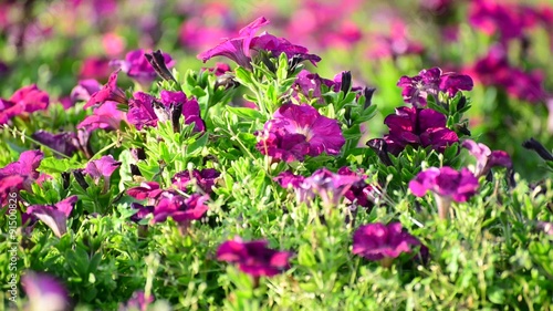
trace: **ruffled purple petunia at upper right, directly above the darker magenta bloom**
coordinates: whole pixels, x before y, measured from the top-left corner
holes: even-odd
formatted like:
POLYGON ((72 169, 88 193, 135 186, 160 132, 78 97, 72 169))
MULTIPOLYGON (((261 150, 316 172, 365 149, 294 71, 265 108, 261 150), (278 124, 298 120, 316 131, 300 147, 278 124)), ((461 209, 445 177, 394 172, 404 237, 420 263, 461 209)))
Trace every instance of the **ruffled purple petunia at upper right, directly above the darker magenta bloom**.
POLYGON ((422 70, 415 76, 401 76, 397 86, 403 89, 401 95, 406 103, 415 107, 424 107, 428 95, 438 96, 439 92, 444 92, 452 97, 461 90, 472 90, 473 82, 466 74, 442 73, 441 69, 432 68, 422 70))

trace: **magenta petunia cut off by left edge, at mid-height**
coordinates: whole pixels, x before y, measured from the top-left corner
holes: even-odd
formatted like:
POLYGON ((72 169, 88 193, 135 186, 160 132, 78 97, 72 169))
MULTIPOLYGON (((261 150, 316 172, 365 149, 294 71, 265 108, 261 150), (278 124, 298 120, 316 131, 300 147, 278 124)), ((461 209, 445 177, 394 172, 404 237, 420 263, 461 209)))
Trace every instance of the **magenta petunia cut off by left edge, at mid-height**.
POLYGON ((12 162, 0 168, 0 201, 6 205, 10 191, 27 190, 31 191, 31 185, 41 183, 49 178, 48 175, 41 175, 36 168, 44 155, 41 151, 27 151, 19 156, 19 160, 12 162))

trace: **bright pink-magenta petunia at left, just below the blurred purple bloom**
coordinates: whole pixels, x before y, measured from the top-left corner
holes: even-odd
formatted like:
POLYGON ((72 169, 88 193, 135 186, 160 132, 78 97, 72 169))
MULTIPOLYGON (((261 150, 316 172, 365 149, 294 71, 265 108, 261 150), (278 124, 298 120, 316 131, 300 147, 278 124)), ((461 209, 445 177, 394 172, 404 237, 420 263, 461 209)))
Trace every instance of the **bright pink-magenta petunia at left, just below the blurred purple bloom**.
POLYGON ((92 115, 86 116, 76 128, 84 128, 88 133, 102 128, 115 131, 121 128, 121 123, 127 123, 126 114, 117 108, 117 103, 107 101, 94 108, 92 115))

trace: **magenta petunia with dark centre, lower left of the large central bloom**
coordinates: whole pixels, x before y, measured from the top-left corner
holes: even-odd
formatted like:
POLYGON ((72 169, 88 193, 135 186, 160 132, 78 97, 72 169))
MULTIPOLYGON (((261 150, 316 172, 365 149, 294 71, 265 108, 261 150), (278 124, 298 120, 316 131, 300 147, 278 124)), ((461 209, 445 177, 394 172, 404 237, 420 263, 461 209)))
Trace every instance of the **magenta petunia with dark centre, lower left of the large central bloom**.
POLYGON ((153 224, 163 222, 167 217, 171 217, 176 222, 188 222, 200 219, 208 210, 206 195, 194 194, 185 198, 173 191, 165 191, 160 195, 157 205, 154 207, 153 224))

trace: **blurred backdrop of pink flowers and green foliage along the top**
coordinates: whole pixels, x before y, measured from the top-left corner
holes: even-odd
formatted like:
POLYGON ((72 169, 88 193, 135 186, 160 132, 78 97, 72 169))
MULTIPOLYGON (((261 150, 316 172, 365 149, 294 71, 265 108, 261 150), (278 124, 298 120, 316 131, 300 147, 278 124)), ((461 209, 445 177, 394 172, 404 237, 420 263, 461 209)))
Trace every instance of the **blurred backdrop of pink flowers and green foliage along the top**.
POLYGON ((0 97, 36 83, 51 104, 63 103, 80 80, 105 83, 109 61, 136 49, 169 53, 180 72, 212 66, 196 55, 260 15, 271 21, 263 31, 323 59, 311 71, 332 79, 348 70, 355 85, 376 87, 379 113, 367 139, 382 136, 384 117, 403 105, 399 77, 440 66, 474 80, 472 138, 510 153, 524 178, 544 176, 521 144, 534 137, 553 146, 553 3, 545 0, 3 0, 0 97))

